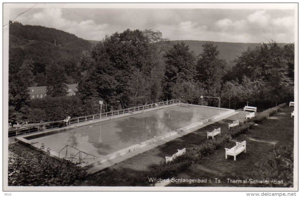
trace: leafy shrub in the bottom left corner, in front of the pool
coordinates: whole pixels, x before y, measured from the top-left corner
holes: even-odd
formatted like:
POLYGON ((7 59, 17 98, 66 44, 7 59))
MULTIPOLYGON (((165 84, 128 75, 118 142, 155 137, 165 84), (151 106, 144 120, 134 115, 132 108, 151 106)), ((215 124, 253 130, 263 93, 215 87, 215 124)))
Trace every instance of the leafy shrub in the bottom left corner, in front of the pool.
POLYGON ((87 175, 81 167, 49 158, 42 151, 19 149, 18 145, 9 150, 13 152, 8 158, 9 186, 70 186, 87 175))

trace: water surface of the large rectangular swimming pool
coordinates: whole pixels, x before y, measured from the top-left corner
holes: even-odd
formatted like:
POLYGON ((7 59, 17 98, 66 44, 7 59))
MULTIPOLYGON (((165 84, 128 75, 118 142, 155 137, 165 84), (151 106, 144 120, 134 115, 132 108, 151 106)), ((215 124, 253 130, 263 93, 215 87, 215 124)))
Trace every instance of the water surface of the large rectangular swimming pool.
MULTIPOLYGON (((191 125, 206 118, 228 111, 223 108, 210 108, 197 105, 171 106, 115 120, 90 124, 64 130, 49 135, 25 137, 35 141, 36 147, 45 145, 53 155, 58 155, 66 145, 80 151, 103 157, 110 153, 139 144, 154 136, 162 136, 170 131, 191 125), (171 113, 168 114, 167 113, 171 113)), ((78 151, 68 147, 68 155, 78 151)), ((66 151, 61 152, 61 157, 66 151)), ((67 155, 67 157, 68 157, 67 155)))

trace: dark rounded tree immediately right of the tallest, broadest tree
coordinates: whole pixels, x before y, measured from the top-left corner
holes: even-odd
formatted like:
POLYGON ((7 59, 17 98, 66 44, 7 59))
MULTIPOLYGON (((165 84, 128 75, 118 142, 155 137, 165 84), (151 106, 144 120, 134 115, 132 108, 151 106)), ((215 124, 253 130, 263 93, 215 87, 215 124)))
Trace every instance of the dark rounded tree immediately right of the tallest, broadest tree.
POLYGON ((192 81, 195 75, 195 56, 184 42, 174 44, 165 57, 165 96, 172 99, 171 89, 178 80, 192 81))

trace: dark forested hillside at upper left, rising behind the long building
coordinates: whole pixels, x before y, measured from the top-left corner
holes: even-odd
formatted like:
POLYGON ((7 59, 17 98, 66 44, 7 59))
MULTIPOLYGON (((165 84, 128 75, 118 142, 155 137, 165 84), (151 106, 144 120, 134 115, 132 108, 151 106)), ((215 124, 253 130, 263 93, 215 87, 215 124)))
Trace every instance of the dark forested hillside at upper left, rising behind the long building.
POLYGON ((24 61, 32 61, 31 85, 45 86, 52 67, 59 67, 65 83, 75 83, 80 72, 76 67, 83 50, 91 43, 74 34, 54 28, 22 25, 14 22, 9 25, 9 80, 20 70, 24 61))

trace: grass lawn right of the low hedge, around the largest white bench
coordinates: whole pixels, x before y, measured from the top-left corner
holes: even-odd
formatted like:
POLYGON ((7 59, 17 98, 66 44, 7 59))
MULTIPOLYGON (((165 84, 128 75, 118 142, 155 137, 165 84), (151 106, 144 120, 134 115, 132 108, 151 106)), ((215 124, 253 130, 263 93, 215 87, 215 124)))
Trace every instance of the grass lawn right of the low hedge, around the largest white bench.
MULTIPOLYGON (((228 183, 230 180, 255 179, 248 177, 257 169, 256 163, 264 163, 271 155, 274 155, 274 149, 282 149, 284 145, 292 143, 294 138, 293 118, 290 117, 292 108, 282 108, 274 116, 263 121, 244 134, 240 134, 232 140, 231 144, 225 148, 232 148, 235 142, 246 141, 247 152, 240 153, 234 161, 233 156, 225 159, 225 149, 216 150, 206 159, 200 160, 196 164, 178 174, 175 178, 183 179, 207 179, 207 183, 171 183, 168 186, 250 186, 250 183, 228 183), (221 183, 216 183, 216 179, 221 183), (211 183, 209 183, 211 180, 211 183)), ((282 185, 278 185, 282 186, 282 185)))

